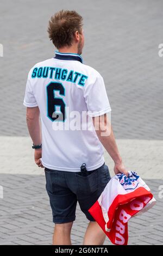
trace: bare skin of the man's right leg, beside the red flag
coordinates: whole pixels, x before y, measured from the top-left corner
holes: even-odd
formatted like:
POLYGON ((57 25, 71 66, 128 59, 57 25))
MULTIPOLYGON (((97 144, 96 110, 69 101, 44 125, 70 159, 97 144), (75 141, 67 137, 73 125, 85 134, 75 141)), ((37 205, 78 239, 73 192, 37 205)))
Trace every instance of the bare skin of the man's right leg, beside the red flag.
POLYGON ((105 233, 96 221, 90 221, 84 236, 83 245, 103 245, 105 233))

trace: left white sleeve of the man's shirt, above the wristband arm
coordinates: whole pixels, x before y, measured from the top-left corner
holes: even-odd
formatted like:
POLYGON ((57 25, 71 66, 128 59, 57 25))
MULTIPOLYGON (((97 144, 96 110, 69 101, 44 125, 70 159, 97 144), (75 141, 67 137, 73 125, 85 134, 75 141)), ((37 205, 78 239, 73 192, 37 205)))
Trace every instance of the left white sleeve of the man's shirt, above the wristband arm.
POLYGON ((32 86, 29 80, 29 75, 28 75, 28 79, 27 79, 27 84, 26 84, 26 93, 24 96, 24 101, 23 101, 23 105, 26 107, 37 107, 37 102, 32 90, 32 86))

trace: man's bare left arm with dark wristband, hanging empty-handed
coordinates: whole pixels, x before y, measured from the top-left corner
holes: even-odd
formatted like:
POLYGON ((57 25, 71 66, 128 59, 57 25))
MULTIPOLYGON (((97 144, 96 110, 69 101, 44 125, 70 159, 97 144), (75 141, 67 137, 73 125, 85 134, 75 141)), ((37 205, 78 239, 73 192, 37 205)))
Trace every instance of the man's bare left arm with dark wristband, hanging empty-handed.
MULTIPOLYGON (((27 126, 34 145, 41 144, 40 111, 38 107, 27 107, 27 126)), ((42 149, 35 149, 35 163, 43 167, 41 163, 42 149)))

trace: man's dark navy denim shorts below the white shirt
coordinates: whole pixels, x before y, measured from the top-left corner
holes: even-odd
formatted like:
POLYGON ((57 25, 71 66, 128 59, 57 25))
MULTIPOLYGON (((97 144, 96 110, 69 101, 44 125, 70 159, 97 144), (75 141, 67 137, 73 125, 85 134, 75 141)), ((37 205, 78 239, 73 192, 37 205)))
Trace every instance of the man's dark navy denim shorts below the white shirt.
POLYGON ((52 208, 53 222, 66 223, 76 219, 77 202, 89 221, 95 219, 88 212, 110 180, 105 163, 91 171, 66 172, 45 168, 46 190, 52 208))

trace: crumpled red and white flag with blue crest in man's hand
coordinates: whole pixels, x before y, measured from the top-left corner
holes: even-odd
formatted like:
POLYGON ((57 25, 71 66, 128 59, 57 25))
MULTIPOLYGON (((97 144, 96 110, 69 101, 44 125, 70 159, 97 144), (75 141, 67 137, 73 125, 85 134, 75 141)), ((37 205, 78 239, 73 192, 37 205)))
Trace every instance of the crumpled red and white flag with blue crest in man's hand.
POLYGON ((114 245, 127 245, 128 221, 156 203, 149 187, 135 172, 115 175, 89 209, 114 245))

